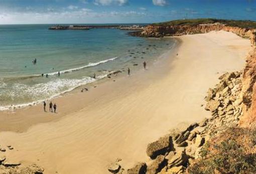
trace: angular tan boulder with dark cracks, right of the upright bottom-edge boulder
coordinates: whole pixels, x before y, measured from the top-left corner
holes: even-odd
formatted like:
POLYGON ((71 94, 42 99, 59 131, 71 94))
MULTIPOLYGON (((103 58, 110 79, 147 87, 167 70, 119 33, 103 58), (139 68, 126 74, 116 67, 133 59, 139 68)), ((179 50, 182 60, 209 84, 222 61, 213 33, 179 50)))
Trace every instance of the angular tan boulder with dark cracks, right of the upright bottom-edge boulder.
POLYGON ((178 151, 171 159, 168 160, 168 168, 180 165, 186 165, 188 162, 188 155, 186 149, 178 151))

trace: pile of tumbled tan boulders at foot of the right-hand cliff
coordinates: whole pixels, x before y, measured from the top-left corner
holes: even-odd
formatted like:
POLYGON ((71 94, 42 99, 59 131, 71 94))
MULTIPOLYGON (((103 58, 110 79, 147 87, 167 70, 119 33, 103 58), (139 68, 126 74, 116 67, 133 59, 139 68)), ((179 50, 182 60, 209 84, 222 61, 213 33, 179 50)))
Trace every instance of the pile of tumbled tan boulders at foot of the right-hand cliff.
POLYGON ((220 82, 209 88, 204 108, 211 111, 212 117, 195 122, 184 130, 173 129, 171 133, 148 144, 147 155, 150 162, 138 162, 126 171, 112 163, 108 170, 112 173, 128 174, 167 174, 186 173, 194 159, 200 158, 201 148, 213 136, 217 136, 226 127, 239 125, 243 115, 242 72, 225 73, 220 82))

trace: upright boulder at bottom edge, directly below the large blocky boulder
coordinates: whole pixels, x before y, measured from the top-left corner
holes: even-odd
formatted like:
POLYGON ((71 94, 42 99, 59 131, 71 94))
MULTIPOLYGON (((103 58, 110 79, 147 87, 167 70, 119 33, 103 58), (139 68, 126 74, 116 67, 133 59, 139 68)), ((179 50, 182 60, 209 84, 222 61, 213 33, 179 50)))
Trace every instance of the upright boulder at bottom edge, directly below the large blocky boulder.
POLYGON ((156 159, 152 161, 147 167, 147 174, 156 174, 160 172, 167 164, 167 160, 164 155, 158 155, 156 159))

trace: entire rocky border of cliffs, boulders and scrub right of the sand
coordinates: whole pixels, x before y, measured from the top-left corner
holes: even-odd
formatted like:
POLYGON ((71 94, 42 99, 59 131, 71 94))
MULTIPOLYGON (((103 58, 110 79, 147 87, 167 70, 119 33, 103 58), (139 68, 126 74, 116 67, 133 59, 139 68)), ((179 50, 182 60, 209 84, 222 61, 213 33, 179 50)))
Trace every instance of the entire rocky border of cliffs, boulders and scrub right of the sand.
POLYGON ((249 38, 252 50, 246 58, 244 69, 222 74, 219 83, 208 89, 205 96, 206 104, 201 106, 209 110, 212 117, 192 123, 184 130, 174 129, 170 134, 148 144, 146 153, 151 158, 150 161, 138 162, 127 170, 120 170, 121 166, 116 162, 119 167, 109 171, 129 174, 256 172, 253 165, 256 153, 254 148, 251 148, 255 145, 252 139, 256 100, 254 92, 256 30, 220 23, 192 26, 149 25, 143 31, 133 34, 162 37, 218 30, 230 31, 249 38), (210 151, 214 151, 213 154, 210 151), (243 153, 244 151, 246 152, 243 153))

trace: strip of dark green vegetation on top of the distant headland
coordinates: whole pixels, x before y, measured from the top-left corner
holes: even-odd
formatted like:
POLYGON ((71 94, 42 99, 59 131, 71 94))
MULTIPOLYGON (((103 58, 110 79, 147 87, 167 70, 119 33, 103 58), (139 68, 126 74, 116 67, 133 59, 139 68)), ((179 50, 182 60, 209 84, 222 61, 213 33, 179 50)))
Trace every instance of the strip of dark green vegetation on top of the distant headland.
POLYGON ((215 19, 215 18, 171 20, 166 22, 153 23, 153 25, 199 25, 199 24, 213 24, 213 23, 221 23, 227 26, 237 26, 241 28, 256 28, 256 21, 228 20, 228 19, 215 19))

